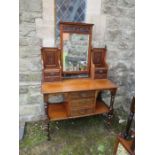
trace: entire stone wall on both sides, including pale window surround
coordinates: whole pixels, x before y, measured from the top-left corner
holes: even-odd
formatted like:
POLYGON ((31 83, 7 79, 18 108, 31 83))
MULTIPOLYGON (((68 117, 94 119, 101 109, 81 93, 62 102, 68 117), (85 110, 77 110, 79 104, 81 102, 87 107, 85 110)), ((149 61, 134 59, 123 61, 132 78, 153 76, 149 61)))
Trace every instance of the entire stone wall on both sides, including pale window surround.
MULTIPOLYGON (((41 46, 55 46, 54 0, 20 0, 20 121, 44 118, 41 46)), ((129 110, 134 94, 134 0, 88 0, 93 46, 107 45, 109 79, 118 86, 115 108, 129 110), (94 7, 95 6, 95 7, 94 7)), ((57 97, 53 100, 60 99, 57 97)), ((51 101, 51 102, 52 102, 51 101)))

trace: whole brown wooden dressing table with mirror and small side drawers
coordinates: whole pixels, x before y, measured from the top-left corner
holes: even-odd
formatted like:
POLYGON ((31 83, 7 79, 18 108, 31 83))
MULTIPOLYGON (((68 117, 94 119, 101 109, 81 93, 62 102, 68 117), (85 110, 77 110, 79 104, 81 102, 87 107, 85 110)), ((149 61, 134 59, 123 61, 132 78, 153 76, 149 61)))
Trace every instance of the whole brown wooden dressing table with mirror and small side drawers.
POLYGON ((42 84, 45 112, 49 121, 84 116, 113 115, 117 86, 107 79, 106 48, 92 48, 93 24, 60 22, 60 48, 43 47, 42 84), (101 98, 110 91, 108 106, 101 98), (62 95, 60 103, 49 103, 49 96, 62 95))

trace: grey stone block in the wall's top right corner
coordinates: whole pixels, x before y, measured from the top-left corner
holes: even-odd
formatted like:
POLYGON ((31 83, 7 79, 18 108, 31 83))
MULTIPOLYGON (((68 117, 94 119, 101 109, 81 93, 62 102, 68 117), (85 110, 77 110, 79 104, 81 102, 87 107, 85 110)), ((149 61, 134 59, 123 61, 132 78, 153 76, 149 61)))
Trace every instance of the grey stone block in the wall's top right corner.
POLYGON ((117 5, 125 8, 132 8, 135 6, 135 0, 118 0, 117 5))

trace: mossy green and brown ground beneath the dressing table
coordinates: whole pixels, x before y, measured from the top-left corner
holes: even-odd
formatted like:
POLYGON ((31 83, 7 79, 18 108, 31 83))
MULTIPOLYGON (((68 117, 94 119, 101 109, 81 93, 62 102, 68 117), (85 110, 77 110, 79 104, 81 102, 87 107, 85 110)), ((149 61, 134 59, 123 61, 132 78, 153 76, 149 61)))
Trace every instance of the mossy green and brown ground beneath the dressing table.
POLYGON ((51 141, 44 121, 27 123, 20 155, 112 155, 116 135, 126 124, 119 118, 115 113, 111 125, 103 115, 51 122, 51 141))

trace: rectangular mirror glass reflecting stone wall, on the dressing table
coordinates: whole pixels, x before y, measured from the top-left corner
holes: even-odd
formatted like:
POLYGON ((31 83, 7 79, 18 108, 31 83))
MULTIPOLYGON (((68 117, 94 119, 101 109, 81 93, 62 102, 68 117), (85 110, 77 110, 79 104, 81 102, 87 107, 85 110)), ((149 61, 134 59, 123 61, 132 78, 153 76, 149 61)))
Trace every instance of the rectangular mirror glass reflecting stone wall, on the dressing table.
POLYGON ((63 33, 63 71, 88 70, 89 34, 63 33))

